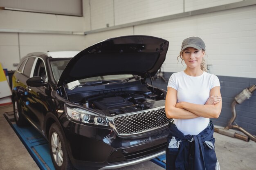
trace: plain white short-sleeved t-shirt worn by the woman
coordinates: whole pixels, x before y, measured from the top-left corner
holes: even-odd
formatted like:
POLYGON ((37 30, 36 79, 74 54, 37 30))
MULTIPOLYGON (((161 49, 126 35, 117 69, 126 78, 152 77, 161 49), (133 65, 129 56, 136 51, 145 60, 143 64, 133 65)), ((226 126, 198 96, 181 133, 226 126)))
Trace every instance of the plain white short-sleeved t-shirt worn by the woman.
MULTIPOLYGON (((184 71, 173 73, 167 87, 177 91, 177 102, 205 104, 210 97, 210 90, 220 86, 216 75, 203 72, 200 76, 190 76, 184 71)), ((198 135, 209 124, 209 118, 174 119, 174 124, 184 135, 198 135)))

